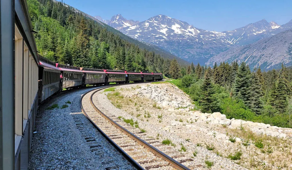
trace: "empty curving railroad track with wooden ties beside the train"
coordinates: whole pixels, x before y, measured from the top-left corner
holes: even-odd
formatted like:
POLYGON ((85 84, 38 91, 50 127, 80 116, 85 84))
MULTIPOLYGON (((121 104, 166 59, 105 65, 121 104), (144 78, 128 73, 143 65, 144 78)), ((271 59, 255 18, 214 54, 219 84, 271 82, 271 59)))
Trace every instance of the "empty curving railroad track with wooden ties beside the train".
MULTIPOLYGON (((141 137, 146 134, 140 132, 139 129, 133 128, 133 130, 131 130, 133 133, 129 132, 117 123, 121 122, 121 120, 115 118, 114 115, 105 115, 98 109, 98 107, 102 108, 102 106, 95 105, 96 102, 93 101, 93 95, 100 90, 114 86, 119 85, 94 89, 82 95, 80 99, 81 110, 91 121, 91 123, 137 169, 188 169, 181 163, 192 160, 183 160, 180 161, 181 163, 174 160, 154 146, 150 145, 151 143, 156 143, 157 141, 152 141, 153 139, 149 139, 147 140, 149 143, 147 143, 146 140, 144 141, 141 139, 141 137)), ((156 147, 159 145, 156 145, 156 147)))

